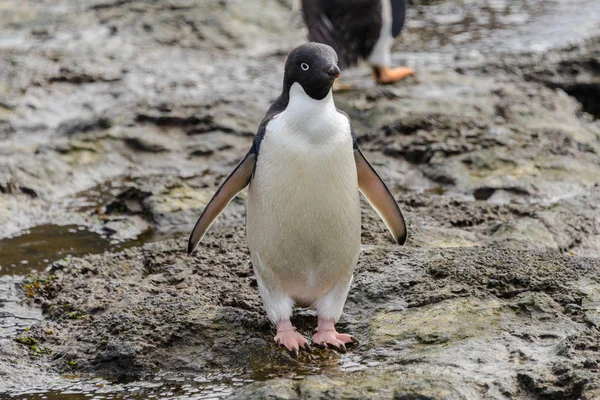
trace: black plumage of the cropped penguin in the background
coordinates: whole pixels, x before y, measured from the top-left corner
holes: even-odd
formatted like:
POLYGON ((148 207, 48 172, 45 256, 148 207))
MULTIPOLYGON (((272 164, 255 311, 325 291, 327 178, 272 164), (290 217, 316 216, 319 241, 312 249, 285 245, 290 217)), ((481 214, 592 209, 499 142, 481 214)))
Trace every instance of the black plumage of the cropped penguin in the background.
MULTIPOLYGON (((391 0, 392 33, 404 23, 406 0, 391 0)), ((341 68, 367 59, 381 33, 381 0, 302 0, 308 40, 334 48, 341 68)))

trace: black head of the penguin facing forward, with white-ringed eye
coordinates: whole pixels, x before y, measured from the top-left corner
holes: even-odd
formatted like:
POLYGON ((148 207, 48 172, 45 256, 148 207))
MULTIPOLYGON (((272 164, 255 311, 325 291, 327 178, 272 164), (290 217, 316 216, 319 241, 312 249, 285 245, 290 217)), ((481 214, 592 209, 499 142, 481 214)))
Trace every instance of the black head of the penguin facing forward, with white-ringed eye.
POLYGON ((311 42, 296 47, 285 63, 283 90, 289 91, 297 82, 307 95, 322 100, 340 76, 337 60, 335 50, 326 44, 311 42))

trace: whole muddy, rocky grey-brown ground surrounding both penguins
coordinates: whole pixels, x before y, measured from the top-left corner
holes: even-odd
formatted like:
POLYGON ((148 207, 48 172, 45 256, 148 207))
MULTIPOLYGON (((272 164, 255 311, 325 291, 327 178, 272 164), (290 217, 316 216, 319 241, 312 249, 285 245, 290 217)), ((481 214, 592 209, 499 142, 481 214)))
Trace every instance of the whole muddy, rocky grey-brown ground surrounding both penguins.
MULTIPOLYGON (((299 359, 272 343, 243 195, 184 251, 305 34, 286 2, 250 3, 0 5, 0 273, 44 313, 0 336, 0 392, 67 374, 198 398, 600 397, 593 2, 415 5, 394 60, 416 78, 343 72, 336 104, 409 240, 363 204, 340 324, 360 346, 299 359)), ((295 322, 309 335, 315 317, 295 322)))

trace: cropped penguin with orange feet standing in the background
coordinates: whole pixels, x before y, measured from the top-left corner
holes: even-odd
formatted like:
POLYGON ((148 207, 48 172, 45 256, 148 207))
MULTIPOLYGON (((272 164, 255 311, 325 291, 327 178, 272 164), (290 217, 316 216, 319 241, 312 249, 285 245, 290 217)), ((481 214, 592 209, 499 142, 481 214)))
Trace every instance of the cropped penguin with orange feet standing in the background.
POLYGON ((392 42, 404 26, 407 1, 302 0, 308 40, 333 47, 342 69, 366 60, 377 83, 399 81, 414 74, 412 68, 391 68, 392 42))

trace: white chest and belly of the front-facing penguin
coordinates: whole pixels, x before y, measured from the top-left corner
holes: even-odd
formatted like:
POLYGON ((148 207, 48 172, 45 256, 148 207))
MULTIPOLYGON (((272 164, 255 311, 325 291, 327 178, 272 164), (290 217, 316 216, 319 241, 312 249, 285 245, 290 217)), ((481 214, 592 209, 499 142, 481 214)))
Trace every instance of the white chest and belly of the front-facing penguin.
POLYGON ((295 84, 267 125, 247 198, 255 272, 270 290, 311 304, 349 279, 360 250, 358 178, 348 119, 331 94, 295 84))

